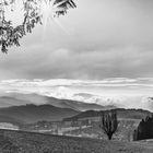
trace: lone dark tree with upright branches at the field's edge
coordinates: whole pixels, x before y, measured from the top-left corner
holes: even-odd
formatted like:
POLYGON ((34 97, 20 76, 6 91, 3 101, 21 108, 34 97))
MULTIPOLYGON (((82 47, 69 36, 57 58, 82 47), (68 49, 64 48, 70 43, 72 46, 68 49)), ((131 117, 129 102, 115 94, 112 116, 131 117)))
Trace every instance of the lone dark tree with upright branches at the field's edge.
POLYGON ((115 110, 102 113, 101 128, 107 134, 108 140, 111 140, 113 134, 116 132, 118 128, 117 114, 115 110))

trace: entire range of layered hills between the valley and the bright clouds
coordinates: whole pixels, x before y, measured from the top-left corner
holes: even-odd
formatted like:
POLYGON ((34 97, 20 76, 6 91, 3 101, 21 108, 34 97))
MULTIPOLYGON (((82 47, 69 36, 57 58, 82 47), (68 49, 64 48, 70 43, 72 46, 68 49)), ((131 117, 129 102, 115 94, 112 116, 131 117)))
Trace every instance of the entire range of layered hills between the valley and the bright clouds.
MULTIPOLYGON (((92 97, 90 94, 75 96, 92 97)), ((150 97, 150 106, 153 106, 150 97)), ((144 103, 145 104, 145 103, 144 103)), ((83 103, 59 99, 38 94, 9 93, 0 96, 0 122, 32 123, 42 120, 72 120, 101 116, 101 110, 116 109, 120 118, 142 119, 152 115, 149 110, 117 108, 114 105, 102 106, 96 103, 83 103)))

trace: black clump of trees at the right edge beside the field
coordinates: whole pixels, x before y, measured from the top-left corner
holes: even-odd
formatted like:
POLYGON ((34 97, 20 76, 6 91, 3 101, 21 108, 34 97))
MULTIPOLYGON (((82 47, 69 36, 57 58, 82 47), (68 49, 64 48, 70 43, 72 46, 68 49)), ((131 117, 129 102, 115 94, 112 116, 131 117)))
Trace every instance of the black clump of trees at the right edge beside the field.
POLYGON ((133 132, 133 140, 153 139, 153 116, 142 119, 133 132))

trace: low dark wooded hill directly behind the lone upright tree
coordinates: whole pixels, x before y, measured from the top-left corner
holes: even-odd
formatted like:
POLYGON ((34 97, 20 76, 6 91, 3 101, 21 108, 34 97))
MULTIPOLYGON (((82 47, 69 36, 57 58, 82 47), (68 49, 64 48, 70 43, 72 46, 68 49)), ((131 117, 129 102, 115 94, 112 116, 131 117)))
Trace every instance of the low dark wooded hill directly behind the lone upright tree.
MULTIPOLYGON (((143 110, 143 109, 116 108, 114 110, 116 110, 118 118, 142 119, 142 118, 145 118, 146 116, 153 115, 153 113, 150 113, 149 110, 143 110)), ((101 115, 102 115, 102 111, 87 110, 87 111, 80 113, 76 116, 64 118, 63 120, 68 121, 68 120, 76 120, 76 119, 82 119, 82 118, 99 117, 101 115)))

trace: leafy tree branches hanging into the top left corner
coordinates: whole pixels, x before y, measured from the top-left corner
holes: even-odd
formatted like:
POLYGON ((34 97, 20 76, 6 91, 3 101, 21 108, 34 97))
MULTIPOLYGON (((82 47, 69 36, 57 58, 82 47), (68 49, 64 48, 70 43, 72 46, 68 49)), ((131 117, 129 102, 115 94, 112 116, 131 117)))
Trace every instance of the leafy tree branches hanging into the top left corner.
MULTIPOLYGON (((0 2, 0 46, 2 52, 8 52, 8 47, 20 46, 20 38, 32 30, 37 23, 43 24, 42 4, 43 2, 51 9, 52 17, 64 15, 71 8, 75 8, 73 0, 1 0, 0 2), (11 8, 14 3, 22 1, 24 20, 21 25, 13 26, 12 21, 7 21, 5 8, 11 8)), ((9 8, 9 9, 10 9, 9 8)), ((11 11, 14 11, 11 9, 11 11)), ((20 12, 19 12, 20 13, 20 12)))

